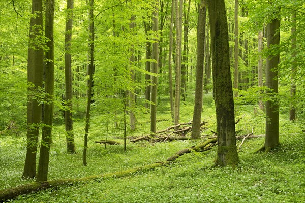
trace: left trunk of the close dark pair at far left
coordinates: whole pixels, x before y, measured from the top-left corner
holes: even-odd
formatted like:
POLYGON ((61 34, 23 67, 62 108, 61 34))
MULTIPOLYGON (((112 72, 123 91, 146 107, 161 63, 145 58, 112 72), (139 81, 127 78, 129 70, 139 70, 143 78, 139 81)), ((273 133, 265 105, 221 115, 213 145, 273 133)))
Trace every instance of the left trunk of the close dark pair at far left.
POLYGON ((27 52, 27 146, 24 163, 23 178, 36 177, 36 151, 39 136, 39 123, 41 120, 42 109, 35 96, 35 92, 42 87, 43 77, 43 49, 40 39, 42 33, 42 0, 32 0, 32 14, 36 17, 31 18, 29 24, 29 47, 27 52), (33 86, 32 86, 33 85, 33 86))

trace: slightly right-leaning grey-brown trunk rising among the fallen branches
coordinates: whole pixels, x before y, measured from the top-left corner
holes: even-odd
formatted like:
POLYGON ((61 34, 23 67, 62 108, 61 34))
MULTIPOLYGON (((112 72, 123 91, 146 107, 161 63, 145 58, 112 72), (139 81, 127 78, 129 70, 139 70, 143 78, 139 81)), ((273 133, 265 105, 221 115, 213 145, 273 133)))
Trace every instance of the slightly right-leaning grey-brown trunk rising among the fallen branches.
POLYGON ((206 1, 201 0, 199 7, 198 27, 197 27, 197 67, 196 67, 196 87, 195 106, 192 124, 192 138, 200 138, 200 123, 202 111, 202 90, 203 90, 203 67, 204 67, 204 39, 206 23, 206 1))

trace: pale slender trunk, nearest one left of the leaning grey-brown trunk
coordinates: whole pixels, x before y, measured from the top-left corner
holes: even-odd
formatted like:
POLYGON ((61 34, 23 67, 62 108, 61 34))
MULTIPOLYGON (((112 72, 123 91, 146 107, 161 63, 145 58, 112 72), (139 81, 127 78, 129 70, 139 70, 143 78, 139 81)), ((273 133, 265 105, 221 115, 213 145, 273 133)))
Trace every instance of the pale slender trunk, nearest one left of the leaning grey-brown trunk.
MULTIPOLYGON (((181 26, 180 18, 182 21, 182 7, 183 0, 180 0, 178 5, 178 0, 175 1, 175 24, 176 24, 176 82, 175 82, 175 103, 174 103, 174 114, 175 114, 175 125, 179 124, 180 117, 180 92, 181 92, 181 26)), ((181 23, 182 25, 182 23, 181 23)))

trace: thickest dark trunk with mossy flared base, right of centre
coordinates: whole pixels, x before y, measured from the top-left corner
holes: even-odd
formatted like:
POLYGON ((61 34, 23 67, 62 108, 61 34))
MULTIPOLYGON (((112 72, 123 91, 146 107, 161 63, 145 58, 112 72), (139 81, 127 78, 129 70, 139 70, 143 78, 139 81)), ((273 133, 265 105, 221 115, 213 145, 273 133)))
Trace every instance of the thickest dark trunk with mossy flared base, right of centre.
POLYGON ((208 1, 217 120, 216 165, 236 166, 234 100, 230 73, 228 23, 224 0, 208 1))

